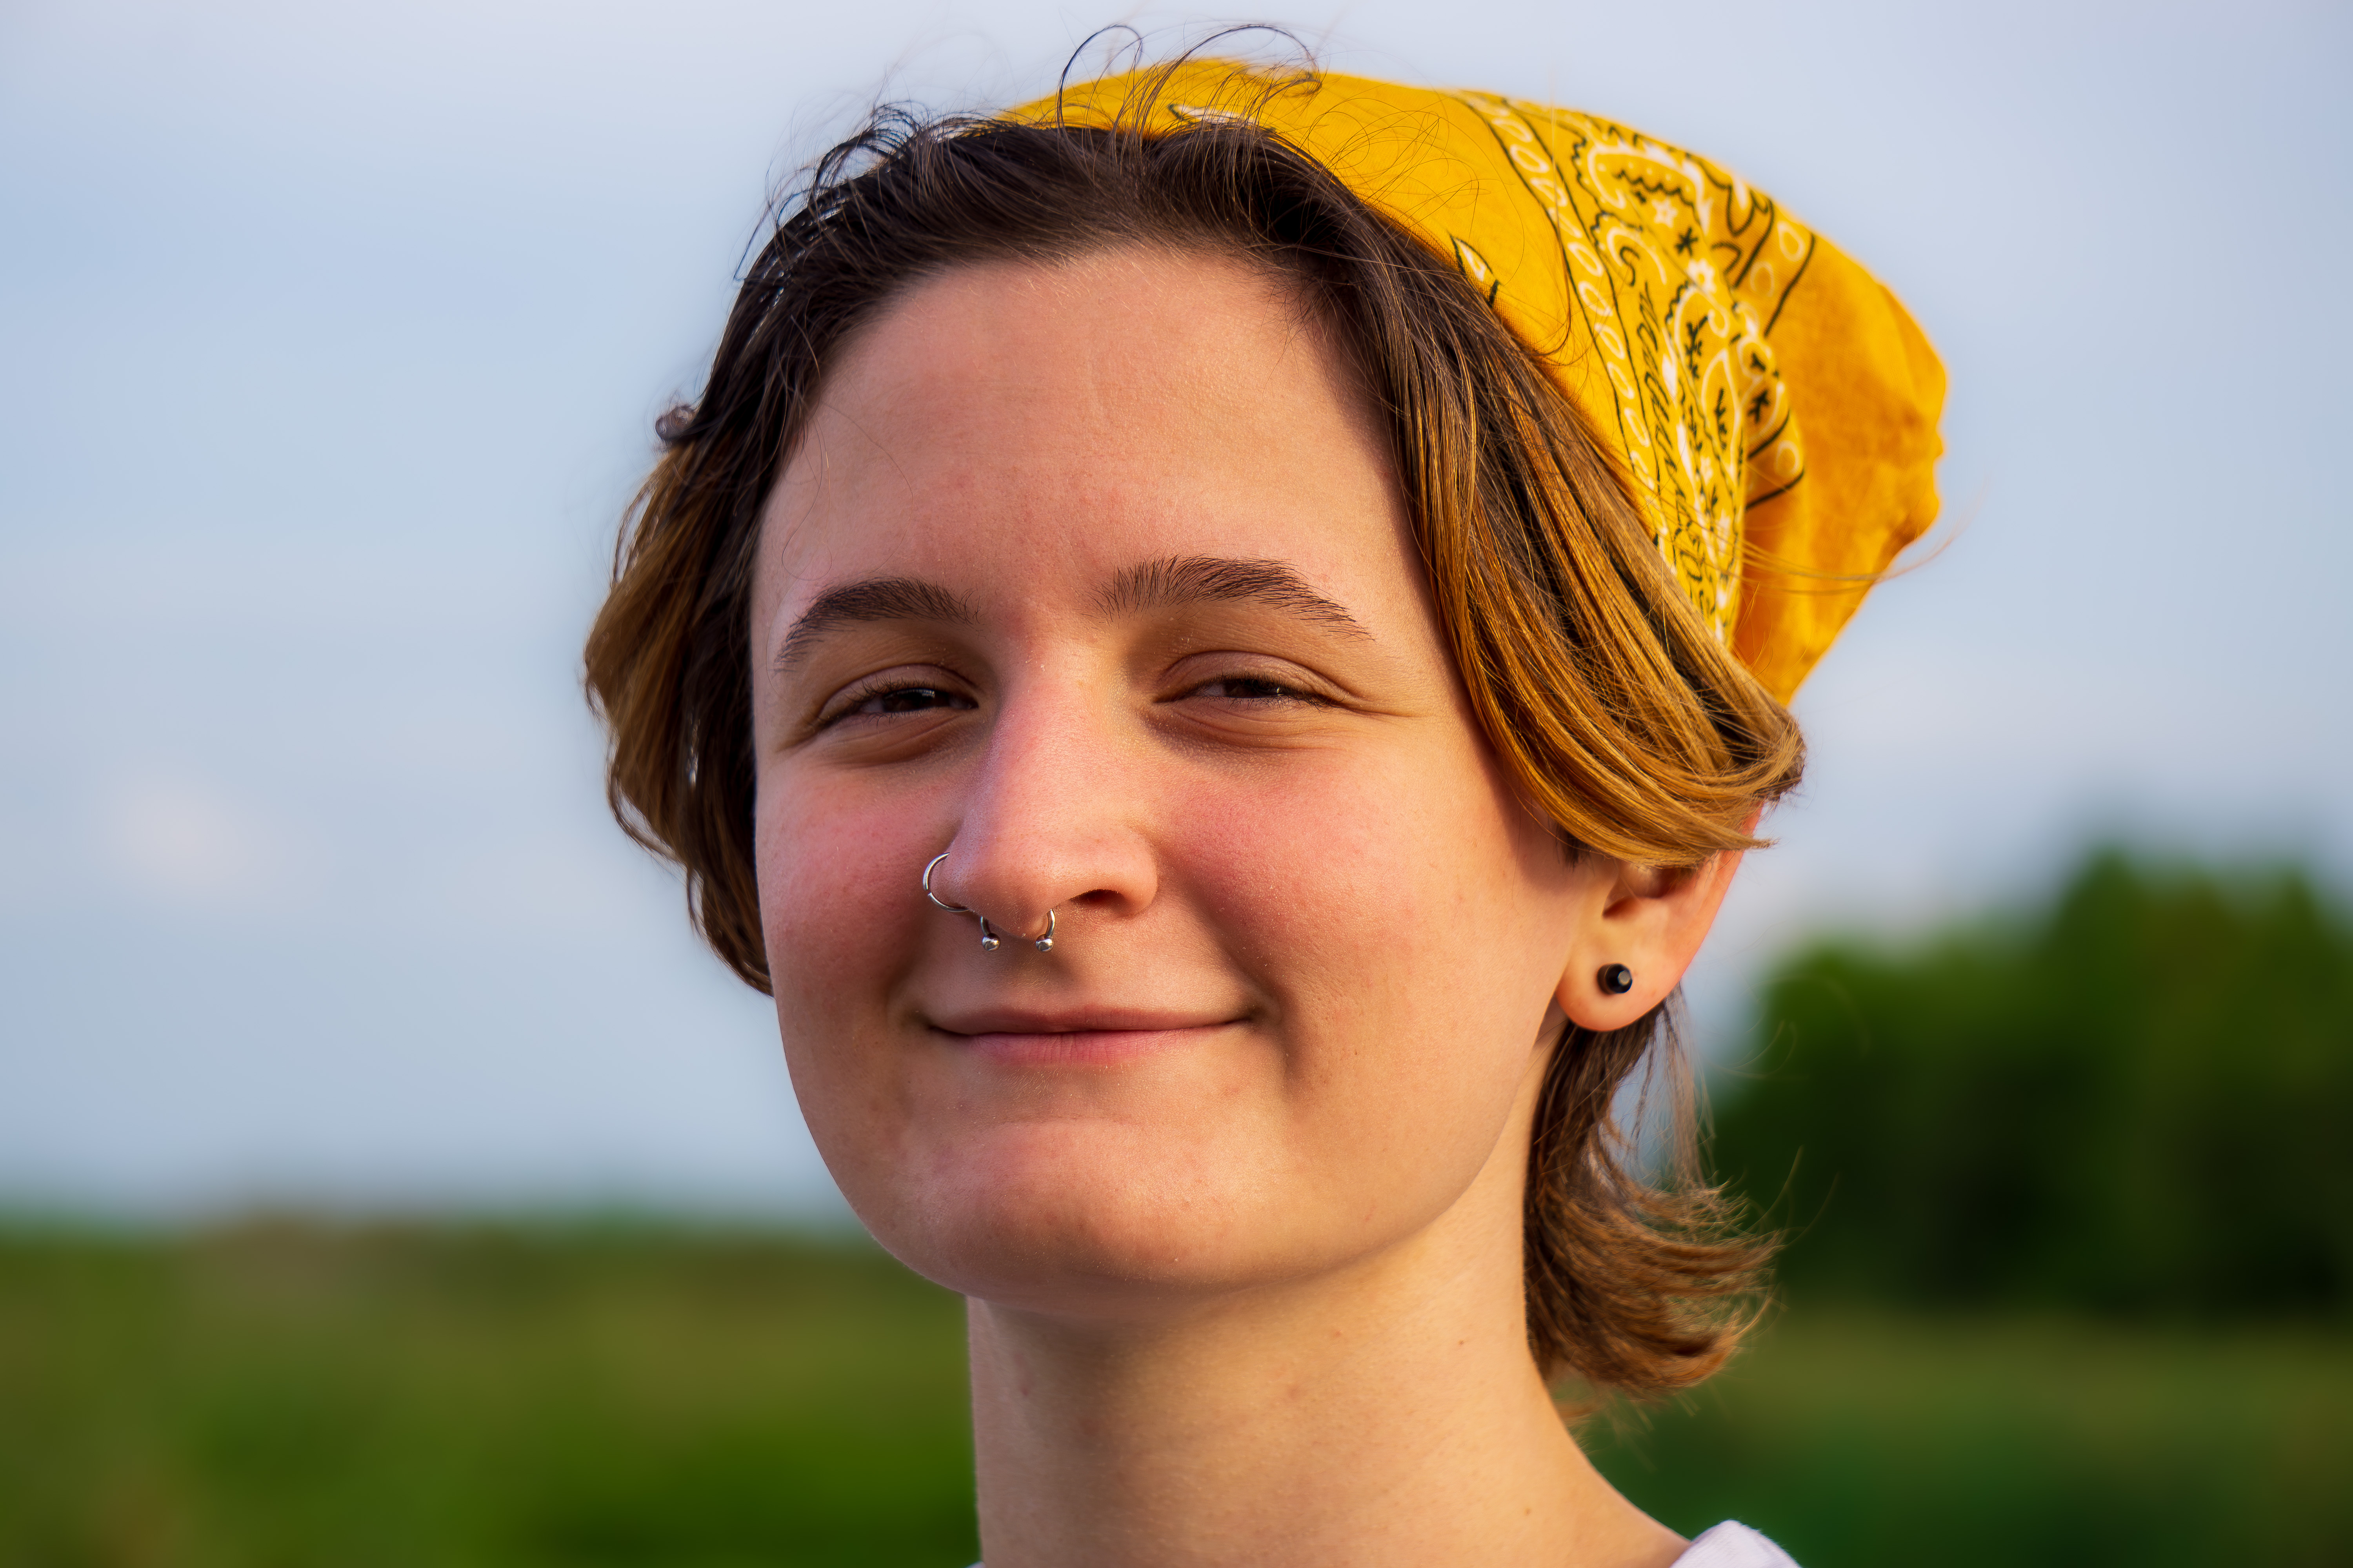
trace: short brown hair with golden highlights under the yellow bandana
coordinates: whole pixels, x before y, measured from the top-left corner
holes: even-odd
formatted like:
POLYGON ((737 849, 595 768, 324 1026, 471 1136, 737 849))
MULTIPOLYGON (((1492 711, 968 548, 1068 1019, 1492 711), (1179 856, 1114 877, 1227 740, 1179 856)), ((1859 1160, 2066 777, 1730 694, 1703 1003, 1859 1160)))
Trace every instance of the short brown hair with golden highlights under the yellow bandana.
MULTIPOLYGON (((847 334, 913 280, 984 259, 1217 247, 1292 280, 1386 416, 1438 616, 1478 719, 1569 853, 1697 865, 1748 849, 1798 783, 1795 722, 1706 630, 1628 480, 1480 294, 1322 165, 1247 122, 1165 134, 918 120, 833 148, 744 277, 588 637, 607 792, 678 860, 718 954, 769 987, 753 877, 751 562, 760 505, 847 334)), ((1713 1373, 1769 1244, 1697 1175, 1668 1009, 1553 1053, 1529 1150, 1527 1333, 1548 1375, 1654 1394, 1713 1373), (1666 1070, 1668 1180, 1612 1107, 1666 1070)))

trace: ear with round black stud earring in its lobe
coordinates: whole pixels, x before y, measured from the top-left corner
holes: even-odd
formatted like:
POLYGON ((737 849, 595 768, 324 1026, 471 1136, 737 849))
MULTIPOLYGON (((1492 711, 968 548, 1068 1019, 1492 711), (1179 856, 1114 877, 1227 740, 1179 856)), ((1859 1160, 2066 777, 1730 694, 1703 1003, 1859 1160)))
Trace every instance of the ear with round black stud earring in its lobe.
MULTIPOLYGON (((1755 823, 1751 816, 1746 832, 1755 823)), ((1739 851, 1680 870, 1593 856, 1569 964, 1553 992, 1560 1011, 1584 1030, 1624 1030, 1666 1001, 1715 924, 1739 865, 1739 851), (1633 973, 1633 987, 1619 994, 1600 980, 1614 964, 1633 973)))

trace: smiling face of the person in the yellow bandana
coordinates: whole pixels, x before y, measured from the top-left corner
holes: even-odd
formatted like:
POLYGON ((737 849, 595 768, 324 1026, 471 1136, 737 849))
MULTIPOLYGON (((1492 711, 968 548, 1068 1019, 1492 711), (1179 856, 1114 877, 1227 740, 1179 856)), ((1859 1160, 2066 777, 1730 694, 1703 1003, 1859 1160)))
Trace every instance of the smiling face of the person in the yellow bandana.
POLYGON ((899 296, 767 503, 753 701, 793 1084, 908 1265, 1132 1312, 1405 1244, 1482 1171, 1515 1232, 1595 870, 1482 743, 1287 287, 1120 249, 899 296), (925 900, 941 851, 1000 950, 925 900))

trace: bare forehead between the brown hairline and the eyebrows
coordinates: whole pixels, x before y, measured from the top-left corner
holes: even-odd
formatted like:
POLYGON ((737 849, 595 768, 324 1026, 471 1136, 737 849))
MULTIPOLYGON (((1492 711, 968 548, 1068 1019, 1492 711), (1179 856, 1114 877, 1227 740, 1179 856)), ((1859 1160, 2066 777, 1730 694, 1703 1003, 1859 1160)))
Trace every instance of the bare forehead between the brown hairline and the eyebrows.
POLYGON ((838 355, 762 529, 760 621, 875 574, 986 595, 1275 555, 1369 590, 1414 559, 1332 329, 1264 268, 1162 249, 911 287, 838 355))

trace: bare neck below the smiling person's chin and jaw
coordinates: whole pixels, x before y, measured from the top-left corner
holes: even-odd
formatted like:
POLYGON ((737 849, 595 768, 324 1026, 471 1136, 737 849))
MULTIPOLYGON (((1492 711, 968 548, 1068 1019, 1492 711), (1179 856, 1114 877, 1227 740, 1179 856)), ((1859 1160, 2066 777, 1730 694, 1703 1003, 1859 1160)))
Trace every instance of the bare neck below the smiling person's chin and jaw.
POLYGON ((974 1300, 988 1568, 1673 1563, 1562 1427, 1501 1222, 1148 1324, 974 1300))

